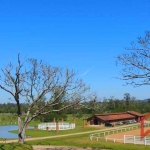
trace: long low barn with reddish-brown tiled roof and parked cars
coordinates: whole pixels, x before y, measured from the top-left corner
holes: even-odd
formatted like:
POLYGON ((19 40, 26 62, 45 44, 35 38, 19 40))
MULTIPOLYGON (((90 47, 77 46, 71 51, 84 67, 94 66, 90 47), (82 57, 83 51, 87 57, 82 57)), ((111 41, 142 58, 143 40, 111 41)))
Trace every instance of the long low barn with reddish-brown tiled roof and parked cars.
POLYGON ((135 111, 127 111, 120 113, 109 113, 109 114, 95 114, 90 118, 87 118, 88 125, 104 125, 107 122, 116 123, 118 121, 127 121, 127 120, 136 120, 139 122, 141 117, 144 115, 135 112, 135 111))

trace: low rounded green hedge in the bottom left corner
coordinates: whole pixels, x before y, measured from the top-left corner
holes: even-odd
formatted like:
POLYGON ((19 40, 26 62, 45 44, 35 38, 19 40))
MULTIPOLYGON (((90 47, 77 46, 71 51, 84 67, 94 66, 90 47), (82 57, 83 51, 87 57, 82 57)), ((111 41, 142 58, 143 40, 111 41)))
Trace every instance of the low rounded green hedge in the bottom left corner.
POLYGON ((0 144, 0 150, 33 150, 29 144, 5 143, 0 144))

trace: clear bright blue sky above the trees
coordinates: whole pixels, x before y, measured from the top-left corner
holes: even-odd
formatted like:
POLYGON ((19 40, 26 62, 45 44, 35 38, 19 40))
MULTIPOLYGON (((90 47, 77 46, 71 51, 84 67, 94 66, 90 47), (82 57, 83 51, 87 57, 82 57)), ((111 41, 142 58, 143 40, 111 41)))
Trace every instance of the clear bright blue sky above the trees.
MULTIPOLYGON (((0 66, 23 57, 69 67, 100 98, 150 97, 122 86, 115 56, 150 28, 149 0, 1 0, 0 66)), ((0 91, 0 102, 9 96, 0 91)))

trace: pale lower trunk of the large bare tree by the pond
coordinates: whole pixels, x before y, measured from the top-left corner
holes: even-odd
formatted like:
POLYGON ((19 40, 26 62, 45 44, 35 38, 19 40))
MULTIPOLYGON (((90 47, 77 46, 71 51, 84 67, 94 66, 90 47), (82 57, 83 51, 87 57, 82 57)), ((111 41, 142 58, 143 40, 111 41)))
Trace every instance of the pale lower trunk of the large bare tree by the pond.
POLYGON ((25 139, 25 125, 22 125, 21 117, 18 116, 18 143, 23 144, 25 139))

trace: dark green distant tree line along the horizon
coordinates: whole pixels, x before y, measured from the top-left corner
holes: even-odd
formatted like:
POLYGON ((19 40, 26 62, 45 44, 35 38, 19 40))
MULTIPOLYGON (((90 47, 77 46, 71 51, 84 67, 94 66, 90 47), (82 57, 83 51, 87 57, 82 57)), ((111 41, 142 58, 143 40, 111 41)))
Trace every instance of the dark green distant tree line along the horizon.
MULTIPOLYGON (((150 111, 150 99, 147 100, 137 100, 135 97, 131 97, 129 93, 125 93, 123 99, 116 99, 113 96, 110 98, 103 98, 102 100, 97 99, 96 109, 91 109, 87 107, 74 107, 64 110, 62 113, 56 112, 48 115, 42 115, 37 119, 40 121, 52 121, 55 117, 56 119, 67 118, 67 114, 72 114, 74 117, 80 118, 83 114, 95 114, 95 113, 112 113, 112 112, 123 112, 123 111, 137 111, 140 113, 147 113, 150 111)), ((88 105, 92 105, 91 102, 88 105)), ((84 104, 83 104, 84 105, 84 104)), ((86 104, 87 106, 87 104, 86 104)), ((27 111, 27 104, 22 103, 21 109, 23 113, 27 111)), ((14 103, 0 104, 0 113, 16 113, 17 105, 14 103)))

